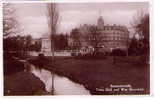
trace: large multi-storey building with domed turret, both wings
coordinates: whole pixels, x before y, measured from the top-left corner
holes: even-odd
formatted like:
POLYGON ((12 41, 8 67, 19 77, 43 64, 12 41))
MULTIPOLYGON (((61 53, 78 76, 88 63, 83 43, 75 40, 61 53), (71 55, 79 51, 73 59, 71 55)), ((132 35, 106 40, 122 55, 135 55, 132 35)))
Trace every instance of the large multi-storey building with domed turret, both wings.
POLYGON ((70 46, 80 45, 80 47, 88 47, 90 44, 87 39, 90 35, 87 35, 89 32, 90 26, 96 26, 101 33, 98 38, 101 38, 99 47, 104 48, 104 50, 112 51, 113 49, 128 49, 129 41, 129 31, 126 26, 119 25, 105 25, 103 17, 100 16, 97 20, 97 25, 81 25, 78 29, 80 31, 80 43, 75 42, 72 38, 69 40, 70 46), (86 39, 86 38, 87 39, 86 39))

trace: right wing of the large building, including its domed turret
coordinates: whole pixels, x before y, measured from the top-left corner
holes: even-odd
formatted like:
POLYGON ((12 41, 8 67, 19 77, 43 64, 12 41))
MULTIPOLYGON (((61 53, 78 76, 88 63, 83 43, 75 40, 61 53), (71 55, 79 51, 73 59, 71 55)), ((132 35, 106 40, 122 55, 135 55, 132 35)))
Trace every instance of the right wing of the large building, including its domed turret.
POLYGON ((125 26, 103 25, 103 19, 98 19, 98 27, 102 33, 102 45, 112 51, 113 49, 128 49, 129 31, 125 26), (100 22, 102 24, 100 24, 100 22), (100 26, 101 25, 101 26, 100 26))

